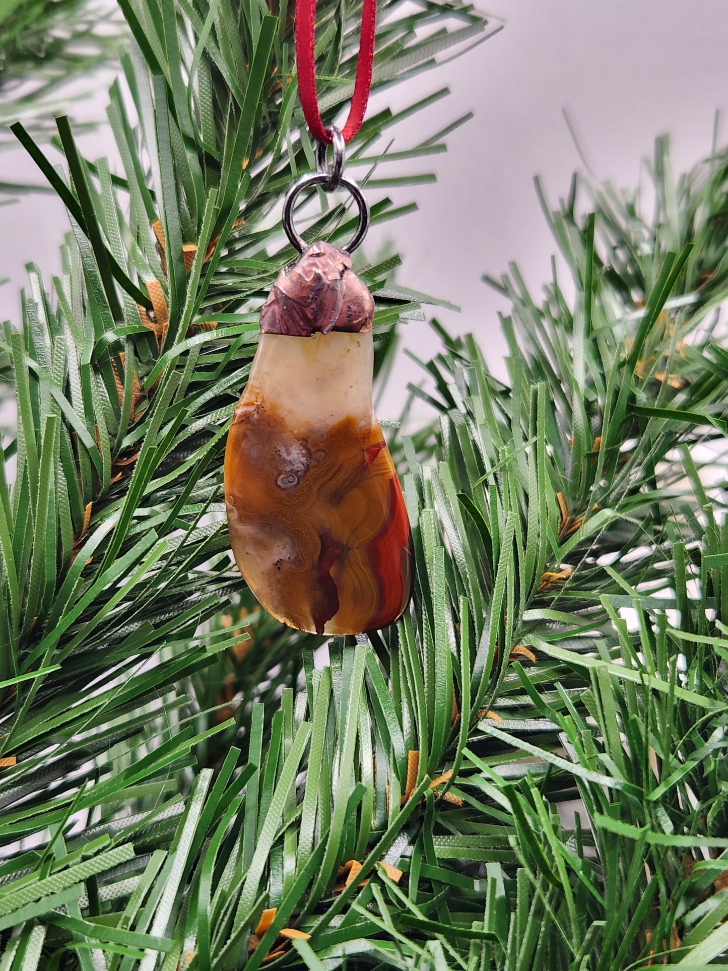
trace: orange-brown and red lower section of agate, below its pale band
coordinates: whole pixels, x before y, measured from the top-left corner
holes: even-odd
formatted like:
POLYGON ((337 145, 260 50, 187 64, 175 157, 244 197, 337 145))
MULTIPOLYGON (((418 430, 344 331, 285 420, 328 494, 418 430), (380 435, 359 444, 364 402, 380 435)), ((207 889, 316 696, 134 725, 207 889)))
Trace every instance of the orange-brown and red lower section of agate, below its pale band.
POLYGON ((225 452, 225 500, 238 566, 274 617, 356 634, 405 610, 410 525, 376 418, 296 437, 274 403, 244 393, 225 452))

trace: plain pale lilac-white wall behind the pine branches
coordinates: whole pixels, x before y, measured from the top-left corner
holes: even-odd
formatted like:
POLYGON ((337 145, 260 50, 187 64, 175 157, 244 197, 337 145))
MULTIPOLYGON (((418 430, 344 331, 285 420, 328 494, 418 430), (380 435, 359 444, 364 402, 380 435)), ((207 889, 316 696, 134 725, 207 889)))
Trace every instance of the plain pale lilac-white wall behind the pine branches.
MULTIPOLYGON (((714 110, 728 109, 726 0, 494 0, 505 29, 464 58, 382 95, 402 106, 449 85, 450 98, 397 129, 394 149, 416 144, 473 110, 476 117, 448 138, 446 155, 423 158, 412 170, 438 173, 438 183, 393 193, 415 199, 414 216, 373 233, 371 248, 391 235, 405 257, 403 284, 447 298, 461 315, 440 315, 453 330, 474 330, 494 360, 502 352, 496 310, 500 298, 480 283, 515 259, 534 290, 549 275, 553 247, 532 179, 541 175, 554 203, 564 194, 579 154, 562 116, 566 108, 585 154, 600 178, 635 185, 640 160, 655 135, 673 136, 675 167, 711 146, 714 110)), ((103 90, 77 116, 103 113, 103 90)), ((375 105, 376 107, 376 105, 375 105)), ((723 124, 728 139, 728 119, 723 124)), ((105 135, 86 151, 108 151, 105 135)), ((0 153, 0 180, 37 181, 20 151, 0 153)), ((51 196, 26 196, 0 208, 0 315, 17 319, 17 288, 25 262, 57 272, 57 247, 66 230, 51 196)), ((406 342, 420 355, 436 342, 424 324, 411 323, 406 342)), ((416 376, 400 361, 402 386, 416 376)), ((394 389, 393 389, 394 390, 394 389)), ((394 409, 401 394, 387 398, 394 409)), ((394 417, 381 415, 381 418, 394 417)))

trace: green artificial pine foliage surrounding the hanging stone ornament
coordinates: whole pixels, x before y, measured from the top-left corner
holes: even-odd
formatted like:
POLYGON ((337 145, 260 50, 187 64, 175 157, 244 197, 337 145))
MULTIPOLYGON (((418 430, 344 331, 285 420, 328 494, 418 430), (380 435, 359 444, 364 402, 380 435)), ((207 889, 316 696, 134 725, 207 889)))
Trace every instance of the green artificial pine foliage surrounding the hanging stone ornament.
MULTIPOLYGON (((31 268, 4 334, 3 971, 719 958, 728 151, 674 184, 659 143, 650 221, 597 185, 595 216, 574 195, 549 214, 576 299, 498 284, 508 385, 436 324, 439 428, 403 443, 412 609, 317 668, 320 639, 261 614, 220 521, 255 307, 290 256, 272 209, 312 162, 290 24, 226 0, 122 10, 124 177, 61 122, 63 278, 51 295, 31 268)), ((319 67, 349 80, 334 11, 319 67)), ((383 19, 381 84, 485 34, 465 7, 383 19), (463 32, 418 39, 443 16, 463 32)), ((331 115, 347 84, 325 84, 331 115)), ((383 286, 395 265, 361 271, 381 337, 421 316, 383 286)))

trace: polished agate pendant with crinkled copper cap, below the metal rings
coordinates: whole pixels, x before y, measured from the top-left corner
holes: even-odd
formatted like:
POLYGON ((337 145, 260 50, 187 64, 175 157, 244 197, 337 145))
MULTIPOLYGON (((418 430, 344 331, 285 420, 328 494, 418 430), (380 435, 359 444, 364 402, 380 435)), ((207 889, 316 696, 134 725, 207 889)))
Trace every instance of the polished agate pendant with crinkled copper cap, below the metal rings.
MULTIPOLYGON (((327 247, 310 261, 320 253, 322 273, 302 285, 304 291, 316 289, 318 309, 304 301, 303 310, 282 315, 294 328, 285 332, 281 314, 270 310, 281 303, 281 290, 264 308, 262 323, 275 329, 261 333, 233 417, 225 503, 236 561, 269 613, 300 630, 358 634, 405 610, 413 584, 412 539, 372 406, 371 311, 364 308, 362 317, 361 301, 353 301, 353 310, 347 303, 356 288, 346 279, 348 257, 327 247), (342 282, 332 296, 331 287, 342 282), (336 326, 339 318, 346 324, 357 316, 361 331, 336 326)), ((304 265, 304 276, 308 270, 304 265)), ((289 298, 283 294, 283 302, 289 298)))

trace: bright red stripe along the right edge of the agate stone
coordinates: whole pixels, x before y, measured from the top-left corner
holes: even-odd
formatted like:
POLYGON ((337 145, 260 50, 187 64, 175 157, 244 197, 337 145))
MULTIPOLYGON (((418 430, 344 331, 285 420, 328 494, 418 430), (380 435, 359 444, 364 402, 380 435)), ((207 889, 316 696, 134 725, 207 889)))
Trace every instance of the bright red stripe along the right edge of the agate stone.
POLYGON ((406 606, 410 590, 405 589, 405 577, 411 576, 410 564, 404 568, 403 557, 412 556, 410 519, 405 497, 396 477, 389 480, 389 515, 380 532, 369 544, 369 562, 379 587, 380 610, 367 624, 368 630, 378 630, 397 619, 406 606))

